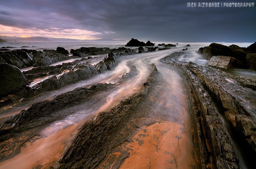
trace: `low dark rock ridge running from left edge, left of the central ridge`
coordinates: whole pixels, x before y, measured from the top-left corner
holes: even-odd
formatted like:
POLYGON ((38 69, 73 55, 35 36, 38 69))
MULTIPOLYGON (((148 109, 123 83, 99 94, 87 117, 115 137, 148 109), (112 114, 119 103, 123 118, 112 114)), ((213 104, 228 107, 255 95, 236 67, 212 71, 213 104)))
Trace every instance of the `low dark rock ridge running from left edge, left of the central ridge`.
POLYGON ((90 88, 81 87, 60 94, 51 100, 37 102, 27 110, 12 115, 0 127, 0 161, 10 159, 20 153, 20 148, 28 142, 47 137, 51 133, 42 133, 47 125, 56 120, 68 118, 76 114, 85 118, 79 111, 96 112, 98 104, 105 104, 106 98, 121 85, 134 80, 138 74, 135 66, 122 76, 116 84, 99 83, 90 88), (22 138, 22 139, 19 139, 22 138))

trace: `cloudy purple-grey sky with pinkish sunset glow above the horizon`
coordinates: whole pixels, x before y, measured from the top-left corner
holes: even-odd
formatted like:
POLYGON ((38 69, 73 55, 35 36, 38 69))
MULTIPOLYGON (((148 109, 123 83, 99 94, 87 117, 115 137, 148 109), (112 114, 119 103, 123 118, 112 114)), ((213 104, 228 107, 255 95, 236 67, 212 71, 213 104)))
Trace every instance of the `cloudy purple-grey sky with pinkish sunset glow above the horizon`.
POLYGON ((187 7, 188 2, 198 5, 241 0, 1 0, 0 35, 126 41, 256 41, 256 4, 187 7))

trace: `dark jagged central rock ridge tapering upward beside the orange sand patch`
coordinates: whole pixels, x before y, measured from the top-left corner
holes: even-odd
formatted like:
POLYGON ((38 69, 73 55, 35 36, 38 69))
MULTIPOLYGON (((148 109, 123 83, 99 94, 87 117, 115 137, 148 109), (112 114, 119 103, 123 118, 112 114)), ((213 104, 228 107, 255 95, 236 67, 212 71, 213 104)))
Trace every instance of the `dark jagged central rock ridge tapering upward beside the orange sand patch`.
POLYGON ((54 168, 96 168, 112 148, 131 139, 136 128, 156 122, 145 121, 145 114, 135 113, 137 104, 157 84, 157 68, 153 64, 150 67, 151 73, 138 93, 80 127, 54 168))

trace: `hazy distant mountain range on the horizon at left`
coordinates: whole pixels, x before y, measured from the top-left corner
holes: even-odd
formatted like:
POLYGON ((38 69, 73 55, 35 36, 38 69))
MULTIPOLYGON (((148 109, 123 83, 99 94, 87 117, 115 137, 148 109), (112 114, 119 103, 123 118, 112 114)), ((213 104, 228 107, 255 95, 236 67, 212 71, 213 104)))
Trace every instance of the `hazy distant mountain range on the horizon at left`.
POLYGON ((0 36, 1 39, 4 39, 9 42, 125 42, 125 40, 114 40, 111 38, 102 38, 102 39, 68 39, 68 38, 48 38, 48 37, 28 37, 22 38, 17 36, 0 36))

